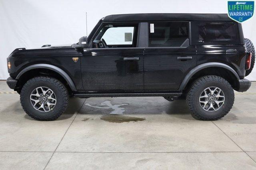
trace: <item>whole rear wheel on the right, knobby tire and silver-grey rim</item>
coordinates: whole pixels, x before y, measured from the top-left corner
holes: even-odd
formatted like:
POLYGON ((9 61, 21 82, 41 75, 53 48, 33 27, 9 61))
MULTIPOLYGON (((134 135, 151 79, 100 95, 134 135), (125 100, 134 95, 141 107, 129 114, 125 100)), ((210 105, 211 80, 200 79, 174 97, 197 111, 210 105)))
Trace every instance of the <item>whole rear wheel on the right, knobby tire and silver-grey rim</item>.
POLYGON ((204 76, 193 82, 186 103, 195 119, 217 120, 232 108, 234 90, 222 77, 204 76))

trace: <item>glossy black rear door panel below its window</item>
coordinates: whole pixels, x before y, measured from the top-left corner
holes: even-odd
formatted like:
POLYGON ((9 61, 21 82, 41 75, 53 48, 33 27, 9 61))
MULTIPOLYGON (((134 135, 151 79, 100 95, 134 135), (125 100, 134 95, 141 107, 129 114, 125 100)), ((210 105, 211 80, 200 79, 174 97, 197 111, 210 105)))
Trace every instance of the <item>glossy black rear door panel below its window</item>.
POLYGON ((196 47, 150 47, 144 54, 145 90, 178 90, 186 74, 196 66, 196 47), (192 57, 178 60, 177 57, 192 57))

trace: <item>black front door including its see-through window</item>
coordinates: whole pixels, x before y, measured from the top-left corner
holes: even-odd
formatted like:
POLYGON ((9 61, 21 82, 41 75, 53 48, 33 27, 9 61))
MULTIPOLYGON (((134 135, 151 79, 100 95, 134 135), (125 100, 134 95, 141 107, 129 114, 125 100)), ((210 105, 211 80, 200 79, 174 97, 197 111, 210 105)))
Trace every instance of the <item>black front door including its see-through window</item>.
POLYGON ((143 52, 138 48, 138 24, 104 24, 92 48, 81 57, 85 91, 130 92, 144 89, 143 52))

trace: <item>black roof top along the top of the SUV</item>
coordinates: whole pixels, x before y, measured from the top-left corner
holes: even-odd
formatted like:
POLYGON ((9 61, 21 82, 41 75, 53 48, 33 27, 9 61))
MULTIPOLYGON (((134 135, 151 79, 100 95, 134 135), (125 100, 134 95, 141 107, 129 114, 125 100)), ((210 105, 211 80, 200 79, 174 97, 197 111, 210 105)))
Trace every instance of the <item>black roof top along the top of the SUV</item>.
MULTIPOLYGON (((155 13, 155 14, 118 14, 106 16, 104 22, 118 21, 230 21, 228 14, 185 14, 185 13, 155 13)), ((231 20, 232 21, 232 20, 231 20)))

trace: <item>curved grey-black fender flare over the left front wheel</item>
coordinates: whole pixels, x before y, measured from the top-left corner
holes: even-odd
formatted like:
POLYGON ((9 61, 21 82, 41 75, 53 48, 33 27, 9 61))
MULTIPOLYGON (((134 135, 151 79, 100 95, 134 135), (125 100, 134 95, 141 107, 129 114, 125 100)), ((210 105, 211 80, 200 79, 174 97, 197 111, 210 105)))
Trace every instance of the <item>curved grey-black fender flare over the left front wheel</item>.
POLYGON ((30 65, 19 72, 19 74, 16 76, 16 80, 18 80, 20 78, 20 76, 22 76, 22 74, 24 74, 28 70, 32 70, 32 69, 36 69, 36 68, 46 68, 46 69, 53 70, 53 71, 57 72, 66 80, 66 82, 68 83, 68 85, 70 86, 72 91, 77 91, 76 86, 75 86, 73 80, 70 78, 70 76, 66 72, 64 72, 64 70, 62 70, 61 68, 51 65, 51 64, 30 65))

